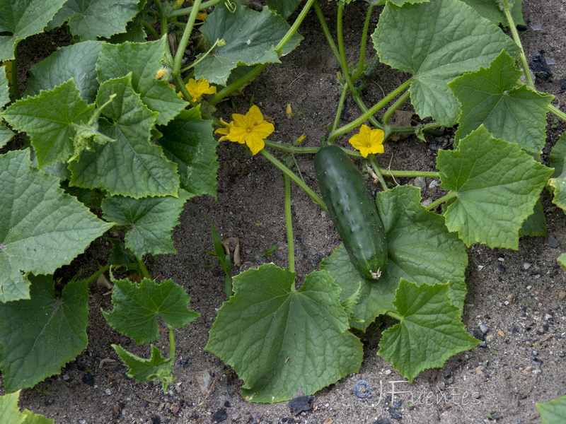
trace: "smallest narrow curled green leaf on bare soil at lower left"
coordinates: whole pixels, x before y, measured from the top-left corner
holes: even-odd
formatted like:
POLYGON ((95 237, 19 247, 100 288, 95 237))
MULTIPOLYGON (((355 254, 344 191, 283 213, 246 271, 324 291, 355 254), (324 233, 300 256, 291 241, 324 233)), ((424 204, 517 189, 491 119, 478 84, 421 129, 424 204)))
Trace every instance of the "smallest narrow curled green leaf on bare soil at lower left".
POLYGON ((151 345, 151 357, 149 359, 139 358, 139 356, 129 353, 124 348, 112 345, 120 359, 127 365, 126 375, 137 379, 139 382, 155 382, 161 379, 167 382, 173 381, 173 365, 171 358, 163 358, 161 352, 154 345, 151 345))

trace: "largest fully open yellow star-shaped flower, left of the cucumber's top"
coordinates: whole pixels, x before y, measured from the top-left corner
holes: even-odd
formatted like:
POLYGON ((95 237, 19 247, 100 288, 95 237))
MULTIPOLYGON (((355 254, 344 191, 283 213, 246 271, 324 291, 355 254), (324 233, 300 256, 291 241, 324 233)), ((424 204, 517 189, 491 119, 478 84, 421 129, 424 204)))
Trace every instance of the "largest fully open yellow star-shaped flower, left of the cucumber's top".
POLYGON ((232 114, 232 119, 234 120, 233 127, 229 129, 226 137, 230 141, 246 143, 253 155, 264 148, 263 140, 275 131, 275 126, 263 119, 260 108, 255 105, 250 107, 245 115, 232 114))

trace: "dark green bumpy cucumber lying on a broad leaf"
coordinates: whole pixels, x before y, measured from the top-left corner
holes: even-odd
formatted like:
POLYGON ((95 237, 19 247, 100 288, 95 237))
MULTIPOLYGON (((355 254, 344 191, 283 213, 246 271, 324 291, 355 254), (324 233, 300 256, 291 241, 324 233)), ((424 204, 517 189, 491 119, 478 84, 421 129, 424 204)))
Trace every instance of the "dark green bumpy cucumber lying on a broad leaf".
POLYGON ((325 146, 314 158, 316 179, 330 218, 354 267, 376 280, 387 263, 386 235, 362 175, 346 153, 325 146))

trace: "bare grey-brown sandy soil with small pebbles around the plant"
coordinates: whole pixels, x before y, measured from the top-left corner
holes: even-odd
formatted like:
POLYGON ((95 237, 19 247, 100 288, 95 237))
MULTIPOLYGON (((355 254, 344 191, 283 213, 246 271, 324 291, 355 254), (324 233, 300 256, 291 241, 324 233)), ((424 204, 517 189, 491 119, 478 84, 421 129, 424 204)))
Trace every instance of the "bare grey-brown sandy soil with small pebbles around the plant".
MULTIPOLYGON (((328 16, 332 16, 333 6, 324 7, 328 16)), ((346 41, 353 51, 357 48, 365 7, 363 2, 347 7, 346 41)), ((537 80, 537 84, 541 90, 555 94, 553 104, 566 110, 566 96, 560 86, 560 78, 566 71, 566 0, 524 0, 524 18, 529 25, 541 25, 541 30, 531 30, 522 37, 528 57, 542 49, 546 57, 555 60, 552 66, 555 76, 550 81, 537 80)), ((377 15, 372 25, 376 20, 377 15)), ((329 25, 332 28, 333 22, 329 25)), ((320 137, 326 134, 325 126, 333 120, 340 95, 336 81, 339 68, 313 14, 301 27, 301 33, 307 41, 284 58, 282 65, 269 67, 233 101, 238 112, 243 113, 254 95, 255 103, 275 120, 277 131, 273 141, 294 140, 305 134, 306 146, 318 146, 320 137), (301 114, 287 119, 287 103, 301 114)), ((364 93, 366 104, 379 100, 383 92, 398 86, 402 78, 403 75, 381 66, 379 76, 364 93)), ((228 119, 229 102, 220 111, 228 119)), ((358 113, 353 105, 348 105, 350 116, 346 119, 353 119, 358 113)), ((548 146, 565 129, 562 123, 555 129, 549 127, 548 146)), ((447 133, 446 145, 449 138, 447 133)), ((345 141, 346 138, 340 142, 345 141)), ((436 152, 432 147, 413 138, 388 143, 381 165, 387 166, 392 158, 392 169, 434 170, 436 152)), ((174 230, 178 254, 159 257, 156 263, 151 259, 146 261, 154 278, 173 278, 182 284, 192 297, 193 309, 202 314, 175 333, 178 380, 168 394, 163 394, 160 384, 139 383, 125 377, 125 367, 120 362, 105 360, 117 359, 111 343, 125 346, 138 355, 146 355, 148 351, 146 346, 136 347, 110 329, 100 314, 100 307, 107 310, 110 307, 110 295, 93 285, 88 348, 61 375, 37 385, 37 389, 49 394, 34 389, 23 391, 22 407, 60 424, 211 423, 221 408, 226 411, 226 423, 349 424, 376 420, 386 423, 384 419, 388 419, 391 423, 405 424, 529 424, 540 423, 537 402, 565 394, 566 299, 560 292, 566 290, 566 272, 555 261, 566 248, 565 217, 543 195, 548 235, 558 240, 558 248, 551 247, 553 243, 549 243, 548 237, 526 237, 521 240, 518 252, 485 246, 468 249, 468 297, 463 322, 470 333, 479 330, 480 324, 489 327, 484 343, 487 348, 477 347, 456 355, 441 369, 422 372, 413 384, 395 383, 395 391, 407 393, 395 396, 392 408, 386 396, 393 382, 403 378, 376 356, 380 330, 374 325, 366 334, 359 335, 365 353, 359 374, 318 392, 310 411, 293 416, 287 402, 267 405, 244 401, 239 391, 241 381, 235 373, 227 370, 212 353, 204 351, 216 309, 225 300, 223 273, 204 250, 212 249, 212 220, 223 237, 240 238, 246 268, 261 264, 264 259, 258 254, 272 245, 282 249, 275 251, 269 261, 287 266, 283 184, 279 171, 260 155, 250 157, 241 145, 224 142, 218 153, 221 165, 218 200, 210 197, 190 200, 180 218, 181 225, 174 230), (87 369, 93 372, 93 377, 87 369), (357 399, 352 392, 354 383, 361 379, 374 388, 369 399, 357 399), (212 387, 207 387, 207 380, 213 383, 212 387), (454 392, 459 395, 453 396, 454 392), (411 407, 411 403, 417 405, 411 407)), ((316 187, 312 157, 301 156, 297 160, 306 182, 316 187)), ((429 188, 431 182, 432 179, 426 180, 424 199, 441 196, 438 188, 429 188)), ((316 269, 320 259, 330 254, 339 239, 328 216, 321 214, 320 208, 296 187, 293 193, 296 272, 300 280, 316 269)), ((108 247, 98 240, 73 266, 83 266, 86 273, 93 272, 97 261, 105 263, 107 255, 108 247)), ((165 337, 158 347, 168 349, 165 337)))

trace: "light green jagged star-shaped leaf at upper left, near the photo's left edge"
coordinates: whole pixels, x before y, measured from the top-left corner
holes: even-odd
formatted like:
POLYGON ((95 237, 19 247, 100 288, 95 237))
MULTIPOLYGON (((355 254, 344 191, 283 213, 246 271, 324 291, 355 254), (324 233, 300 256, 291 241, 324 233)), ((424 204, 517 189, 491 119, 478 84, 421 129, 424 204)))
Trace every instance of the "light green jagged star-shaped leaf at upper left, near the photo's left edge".
POLYGON ((76 126, 93 115, 94 105, 81 99, 74 79, 8 107, 2 116, 18 131, 25 131, 42 168, 67 160, 74 153, 76 126), (64 105, 64 107, 62 107, 64 105))

